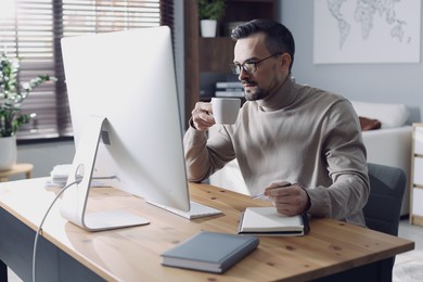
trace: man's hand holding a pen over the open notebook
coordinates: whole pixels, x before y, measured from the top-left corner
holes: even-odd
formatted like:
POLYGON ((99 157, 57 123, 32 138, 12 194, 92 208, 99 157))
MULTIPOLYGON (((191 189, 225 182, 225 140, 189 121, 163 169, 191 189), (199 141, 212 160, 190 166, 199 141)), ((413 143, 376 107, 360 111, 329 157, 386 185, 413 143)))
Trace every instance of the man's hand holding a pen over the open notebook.
POLYGON ((287 181, 272 183, 266 188, 265 195, 273 201, 278 213, 285 216, 300 215, 309 205, 306 190, 287 181))

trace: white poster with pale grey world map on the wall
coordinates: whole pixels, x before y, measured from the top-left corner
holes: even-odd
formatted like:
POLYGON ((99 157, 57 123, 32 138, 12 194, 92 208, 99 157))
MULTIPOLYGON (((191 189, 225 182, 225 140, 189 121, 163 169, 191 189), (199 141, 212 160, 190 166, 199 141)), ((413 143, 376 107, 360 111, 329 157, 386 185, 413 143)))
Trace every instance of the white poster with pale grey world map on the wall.
POLYGON ((315 0, 315 64, 419 63, 421 0, 315 0))

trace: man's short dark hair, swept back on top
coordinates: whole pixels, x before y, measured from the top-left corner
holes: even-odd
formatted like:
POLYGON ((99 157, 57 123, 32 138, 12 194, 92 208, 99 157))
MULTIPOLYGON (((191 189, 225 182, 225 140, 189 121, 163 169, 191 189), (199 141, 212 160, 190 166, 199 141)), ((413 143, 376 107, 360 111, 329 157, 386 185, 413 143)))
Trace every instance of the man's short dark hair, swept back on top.
POLYGON ((290 73, 294 64, 295 41, 286 26, 273 20, 253 20, 236 26, 231 34, 233 40, 246 38, 251 35, 264 33, 266 47, 271 54, 289 53, 291 55, 290 73))

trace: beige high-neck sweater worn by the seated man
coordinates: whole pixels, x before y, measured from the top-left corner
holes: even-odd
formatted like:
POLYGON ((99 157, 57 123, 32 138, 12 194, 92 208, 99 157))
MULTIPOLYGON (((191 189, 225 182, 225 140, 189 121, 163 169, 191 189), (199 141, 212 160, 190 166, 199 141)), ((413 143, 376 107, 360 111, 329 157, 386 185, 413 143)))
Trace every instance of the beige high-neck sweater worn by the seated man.
POLYGON ((238 158, 252 195, 275 181, 307 189, 309 214, 364 226, 370 188, 358 117, 344 98, 287 80, 270 100, 246 102, 232 126, 207 140, 184 136, 190 181, 238 158))

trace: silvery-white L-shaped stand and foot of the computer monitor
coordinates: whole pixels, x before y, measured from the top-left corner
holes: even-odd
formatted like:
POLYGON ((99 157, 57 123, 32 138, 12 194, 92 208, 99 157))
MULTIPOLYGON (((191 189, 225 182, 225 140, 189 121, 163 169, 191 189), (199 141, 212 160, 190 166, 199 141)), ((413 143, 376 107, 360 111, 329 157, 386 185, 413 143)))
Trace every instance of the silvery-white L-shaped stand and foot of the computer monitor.
POLYGON ((105 117, 90 116, 76 149, 67 185, 63 192, 61 214, 70 222, 88 230, 102 231, 150 223, 150 220, 124 210, 107 210, 87 214, 87 202, 90 190, 95 157, 105 117))

